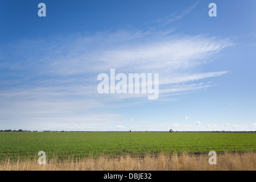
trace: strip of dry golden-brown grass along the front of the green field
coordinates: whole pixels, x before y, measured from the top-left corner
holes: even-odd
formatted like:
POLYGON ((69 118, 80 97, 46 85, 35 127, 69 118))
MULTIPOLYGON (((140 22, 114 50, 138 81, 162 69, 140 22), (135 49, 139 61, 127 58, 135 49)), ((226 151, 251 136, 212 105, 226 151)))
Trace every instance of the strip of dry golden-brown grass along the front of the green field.
POLYGON ((107 158, 101 156, 97 159, 67 159, 58 161, 55 159, 47 161, 45 165, 39 165, 37 159, 18 162, 6 160, 0 164, 1 171, 255 171, 256 153, 245 154, 226 153, 217 155, 217 164, 208 163, 208 155, 189 154, 160 154, 158 156, 147 155, 144 158, 120 156, 119 158, 107 158))

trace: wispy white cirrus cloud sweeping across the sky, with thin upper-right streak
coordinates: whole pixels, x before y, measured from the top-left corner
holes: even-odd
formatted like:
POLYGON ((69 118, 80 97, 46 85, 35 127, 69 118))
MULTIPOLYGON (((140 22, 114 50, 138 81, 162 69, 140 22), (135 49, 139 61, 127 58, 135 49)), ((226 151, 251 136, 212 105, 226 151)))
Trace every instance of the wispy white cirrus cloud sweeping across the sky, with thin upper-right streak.
MULTIPOLYGON (((196 5, 159 23, 167 26, 183 18, 196 5)), ((48 123, 55 123, 54 127, 121 121, 121 116, 112 111, 98 117, 91 111, 94 109, 97 113, 102 108, 134 103, 143 105, 145 102, 141 101, 147 96, 98 94, 99 73, 109 74, 111 68, 126 74, 159 73, 159 100, 162 97, 161 101, 172 101, 177 99, 176 94, 215 86, 212 82, 205 83, 204 79, 223 76, 229 71, 204 72, 198 68, 233 45, 228 38, 175 34, 172 27, 166 31, 149 28, 90 35, 60 34, 0 45, 1 118, 46 119, 48 123), (120 101, 125 104, 118 105, 120 101)))

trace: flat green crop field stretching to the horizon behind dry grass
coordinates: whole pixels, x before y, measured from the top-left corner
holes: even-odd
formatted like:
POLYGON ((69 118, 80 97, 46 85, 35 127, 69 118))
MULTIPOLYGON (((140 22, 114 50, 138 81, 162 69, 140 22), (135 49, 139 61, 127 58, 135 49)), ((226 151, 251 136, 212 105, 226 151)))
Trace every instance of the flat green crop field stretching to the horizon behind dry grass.
POLYGON ((140 155, 166 152, 207 154, 256 151, 256 133, 0 133, 0 161, 47 158, 140 155))

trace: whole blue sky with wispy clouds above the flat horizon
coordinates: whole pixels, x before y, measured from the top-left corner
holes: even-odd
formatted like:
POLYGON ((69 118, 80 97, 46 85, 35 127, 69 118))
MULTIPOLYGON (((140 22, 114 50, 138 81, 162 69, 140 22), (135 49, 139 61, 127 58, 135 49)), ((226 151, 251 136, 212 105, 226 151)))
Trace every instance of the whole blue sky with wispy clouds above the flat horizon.
POLYGON ((254 131, 255 7, 3 0, 0 129, 254 131), (159 73, 159 98, 99 94, 97 76, 112 68, 159 73))

